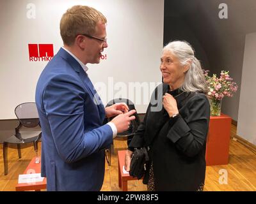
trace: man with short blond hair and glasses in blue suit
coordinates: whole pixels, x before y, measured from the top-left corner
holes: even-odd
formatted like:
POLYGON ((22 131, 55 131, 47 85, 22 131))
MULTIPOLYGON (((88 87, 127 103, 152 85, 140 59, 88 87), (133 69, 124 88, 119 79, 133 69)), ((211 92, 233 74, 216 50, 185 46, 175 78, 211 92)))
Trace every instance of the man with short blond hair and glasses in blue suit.
POLYGON ((48 191, 100 191, 104 149, 129 128, 135 110, 117 103, 104 108, 86 71, 108 47, 106 17, 88 6, 63 14, 64 46, 42 71, 36 106, 42 128, 42 177, 48 191), (106 117, 117 115, 104 125, 106 117))

